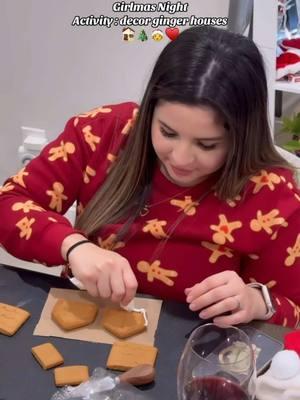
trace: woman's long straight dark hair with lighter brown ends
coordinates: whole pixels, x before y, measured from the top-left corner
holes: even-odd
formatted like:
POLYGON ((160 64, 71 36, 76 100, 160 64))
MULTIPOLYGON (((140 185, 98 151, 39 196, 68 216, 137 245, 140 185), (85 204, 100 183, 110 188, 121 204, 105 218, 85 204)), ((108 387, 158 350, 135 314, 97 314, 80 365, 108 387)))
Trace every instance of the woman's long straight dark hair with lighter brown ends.
POLYGON ((87 235, 129 215, 130 224, 143 206, 156 163, 151 123, 160 100, 209 106, 224 121, 229 151, 215 186, 220 199, 237 196, 261 169, 291 168, 273 145, 266 75, 256 45, 220 28, 190 28, 158 57, 124 151, 77 219, 87 235))

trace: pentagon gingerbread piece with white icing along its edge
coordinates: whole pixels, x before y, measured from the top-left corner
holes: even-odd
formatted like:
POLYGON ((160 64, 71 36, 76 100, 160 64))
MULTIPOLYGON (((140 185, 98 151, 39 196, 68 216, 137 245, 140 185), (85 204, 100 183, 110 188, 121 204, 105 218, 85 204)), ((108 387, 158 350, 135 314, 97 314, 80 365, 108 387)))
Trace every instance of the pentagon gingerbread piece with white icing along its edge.
POLYGON ((101 323, 108 332, 120 339, 136 335, 147 329, 142 313, 116 308, 106 308, 101 323))

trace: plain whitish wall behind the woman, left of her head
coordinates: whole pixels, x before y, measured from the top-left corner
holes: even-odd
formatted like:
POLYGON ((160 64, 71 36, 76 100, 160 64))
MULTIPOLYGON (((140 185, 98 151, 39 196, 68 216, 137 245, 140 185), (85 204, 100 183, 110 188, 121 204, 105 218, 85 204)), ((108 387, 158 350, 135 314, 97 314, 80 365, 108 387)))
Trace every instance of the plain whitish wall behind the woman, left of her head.
MULTIPOLYGON (((20 126, 46 129, 48 137, 54 139, 74 114, 104 103, 141 99, 155 59, 169 39, 125 43, 119 26, 110 29, 71 26, 75 15, 123 16, 124 13, 113 13, 112 3, 110 0, 1 0, 1 182, 19 168, 20 126)), ((188 3, 187 13, 174 16, 228 15, 229 0, 188 3)), ((141 29, 137 27, 136 31, 141 29)), ((145 30, 149 36, 153 29, 148 26, 145 30)))

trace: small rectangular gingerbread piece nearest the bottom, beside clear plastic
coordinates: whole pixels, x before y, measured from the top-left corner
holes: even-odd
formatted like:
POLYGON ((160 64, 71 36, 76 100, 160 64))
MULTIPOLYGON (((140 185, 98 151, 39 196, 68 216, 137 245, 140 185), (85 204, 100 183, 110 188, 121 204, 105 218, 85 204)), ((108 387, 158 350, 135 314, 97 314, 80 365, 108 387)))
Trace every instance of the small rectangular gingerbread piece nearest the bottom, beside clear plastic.
POLYGON ((59 367, 54 370, 54 381, 56 386, 79 385, 89 379, 89 369, 86 365, 71 365, 59 367))

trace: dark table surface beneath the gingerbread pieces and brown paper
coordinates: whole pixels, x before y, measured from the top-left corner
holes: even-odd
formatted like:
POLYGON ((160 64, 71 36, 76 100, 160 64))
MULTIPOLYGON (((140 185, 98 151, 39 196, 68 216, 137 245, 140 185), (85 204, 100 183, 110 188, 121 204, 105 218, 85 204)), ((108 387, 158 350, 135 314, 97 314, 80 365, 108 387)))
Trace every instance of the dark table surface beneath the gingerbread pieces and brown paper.
MULTIPOLYGON (((49 400, 57 391, 53 372, 44 371, 31 354, 33 346, 50 341, 63 354, 65 365, 86 364, 90 373, 105 367, 111 345, 33 336, 51 287, 74 288, 61 278, 0 266, 0 302, 23 307, 30 319, 12 337, 0 335, 0 400, 49 400)), ((185 335, 199 319, 187 305, 164 301, 155 337, 158 348, 155 383, 143 390, 151 399, 176 399, 176 368, 186 343, 185 335)), ((253 323, 269 335, 282 339, 285 328, 253 323)))

